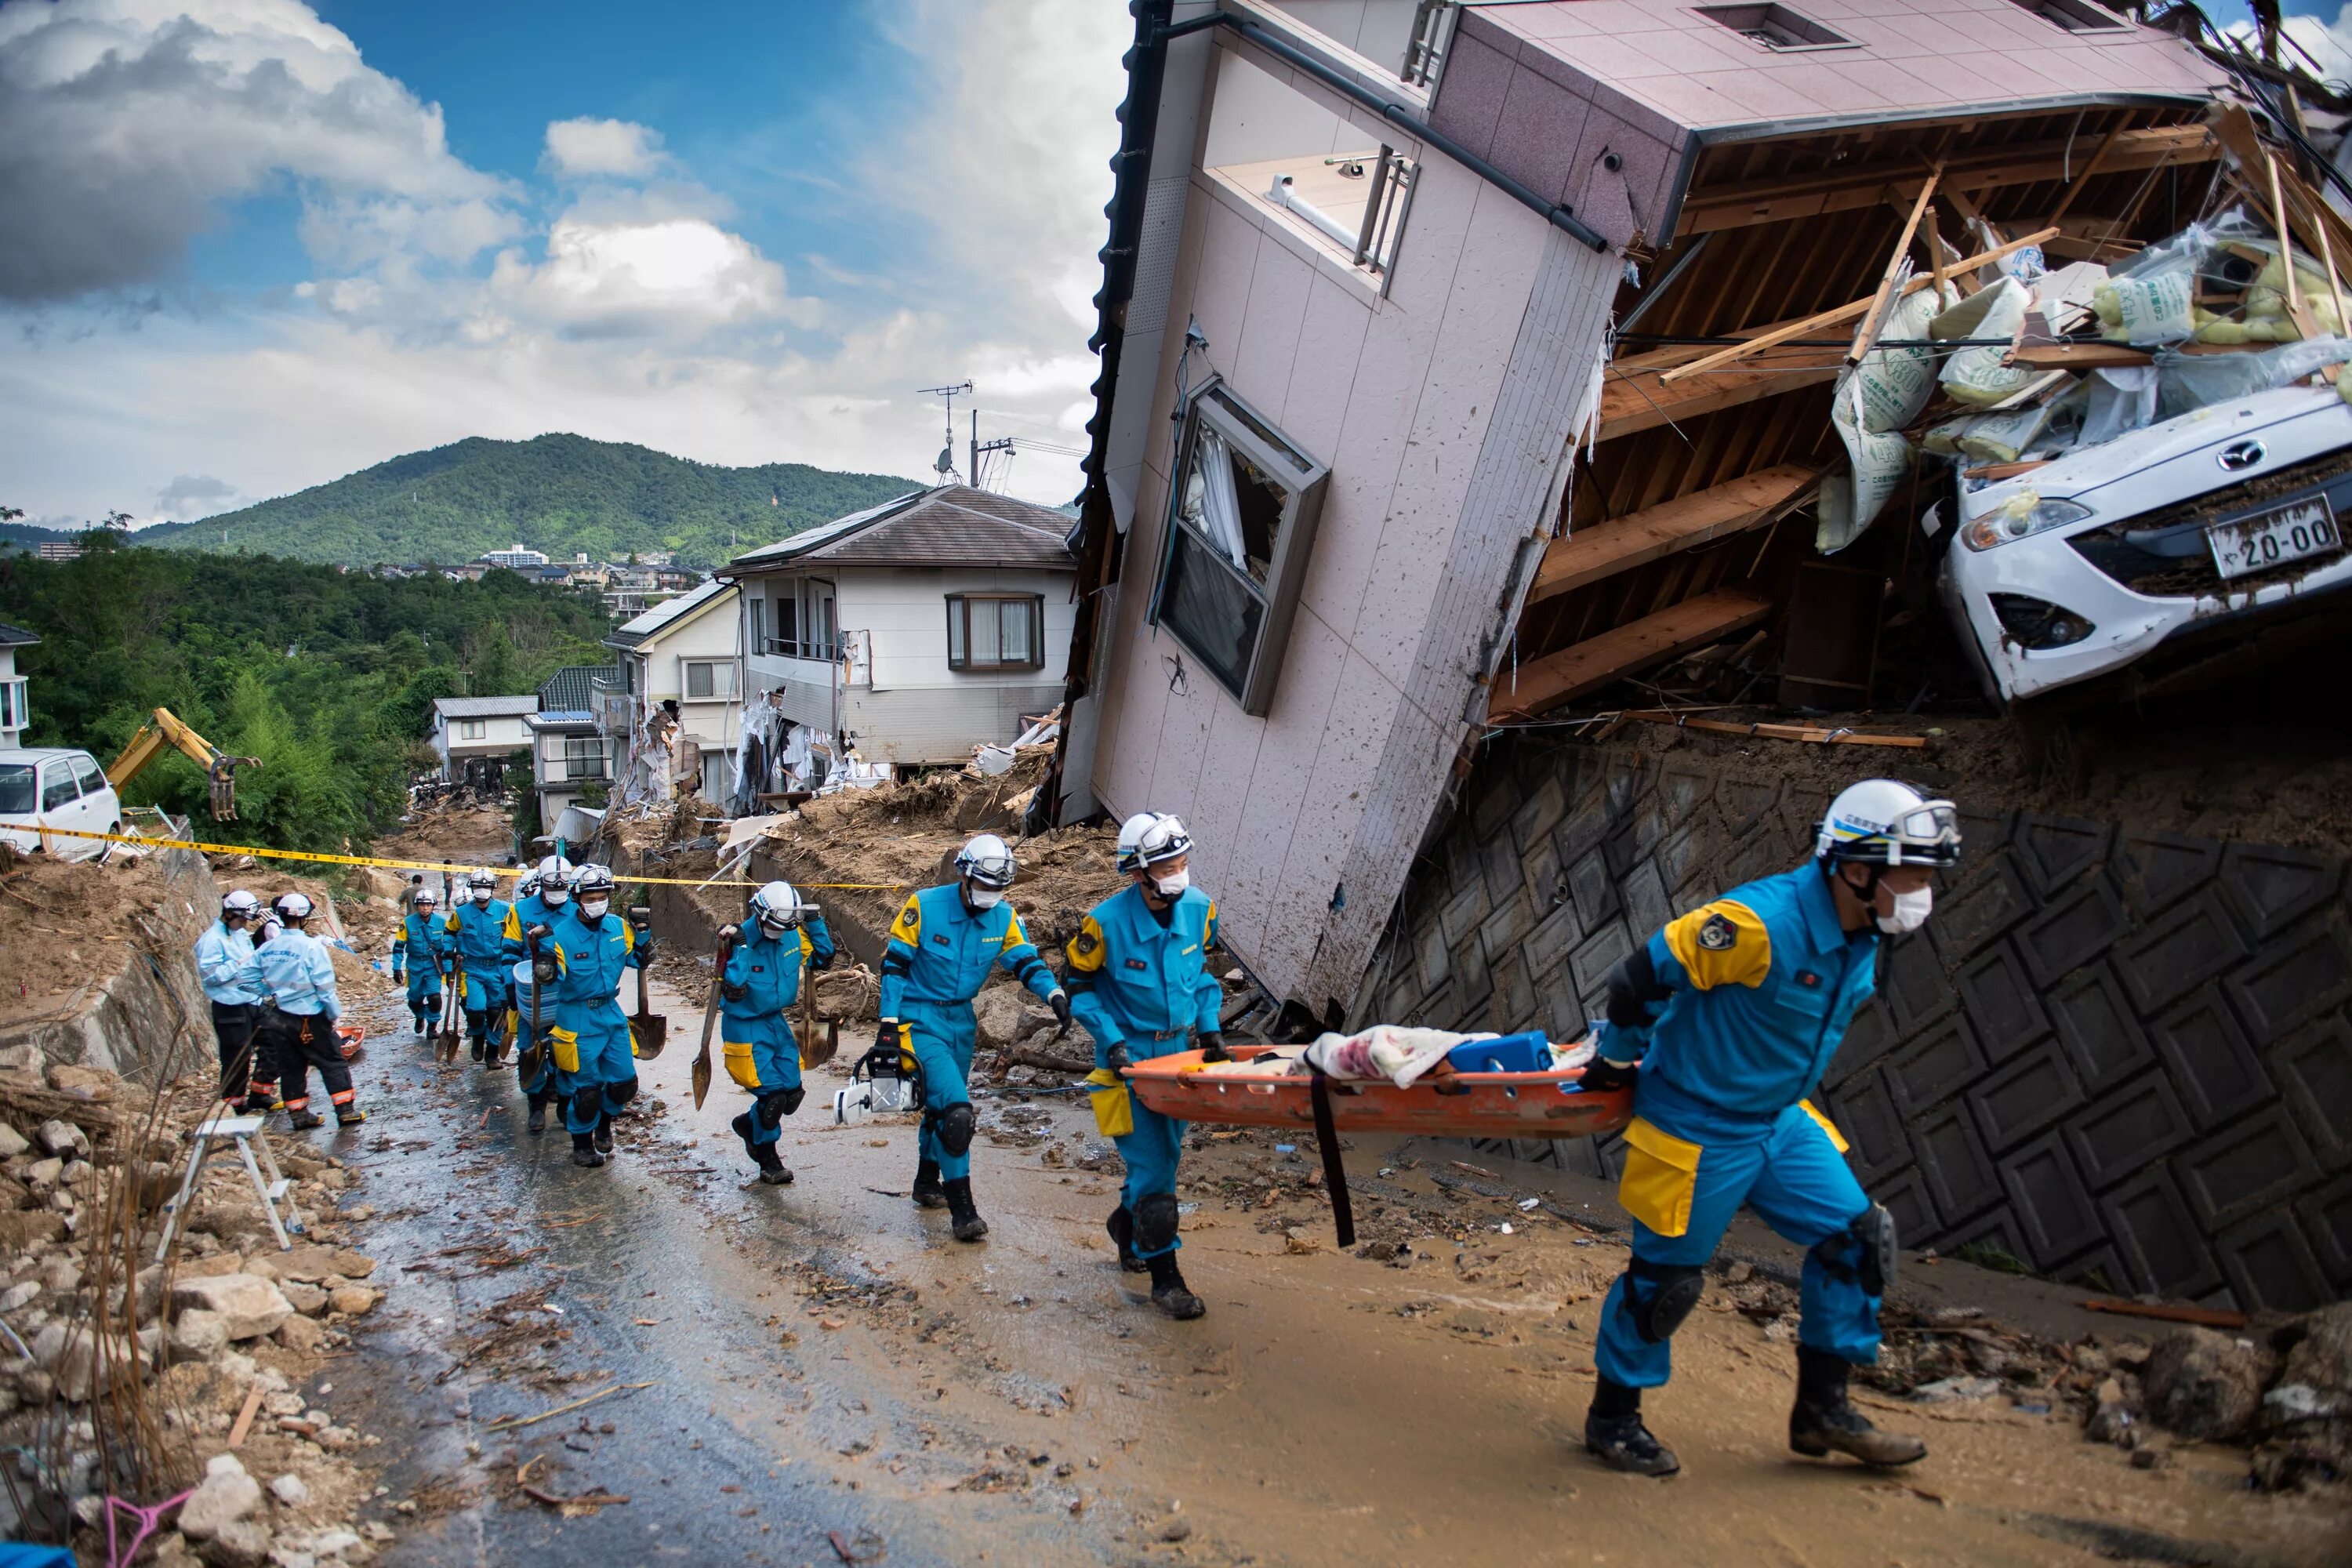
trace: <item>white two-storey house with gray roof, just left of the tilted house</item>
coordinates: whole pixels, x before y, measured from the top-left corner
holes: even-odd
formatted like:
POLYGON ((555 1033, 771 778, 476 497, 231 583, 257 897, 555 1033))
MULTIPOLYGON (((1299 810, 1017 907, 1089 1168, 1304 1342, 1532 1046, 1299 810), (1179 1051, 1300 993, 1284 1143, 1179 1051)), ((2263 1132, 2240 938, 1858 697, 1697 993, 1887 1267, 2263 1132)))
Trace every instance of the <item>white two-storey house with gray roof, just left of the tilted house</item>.
POLYGON ((967 762, 1061 698, 1070 520, 922 489, 739 555, 746 686, 866 762, 967 762))

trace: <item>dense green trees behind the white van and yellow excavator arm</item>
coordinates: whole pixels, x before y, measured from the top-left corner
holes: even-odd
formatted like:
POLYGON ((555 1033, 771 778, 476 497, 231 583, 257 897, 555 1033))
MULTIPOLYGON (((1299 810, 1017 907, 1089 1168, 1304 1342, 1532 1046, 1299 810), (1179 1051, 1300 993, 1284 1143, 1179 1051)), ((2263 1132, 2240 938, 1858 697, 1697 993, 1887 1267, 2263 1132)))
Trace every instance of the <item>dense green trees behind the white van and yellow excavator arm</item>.
POLYGON ((127 790, 193 818, 198 837, 341 851, 388 830, 428 766, 435 696, 534 691, 557 665, 604 663, 612 618, 593 595, 492 571, 376 581, 334 567, 212 557, 82 534, 73 562, 0 557, 0 621, 40 635, 28 745, 115 759, 169 708, 228 752, 238 823, 205 816, 205 778, 167 755, 127 790))

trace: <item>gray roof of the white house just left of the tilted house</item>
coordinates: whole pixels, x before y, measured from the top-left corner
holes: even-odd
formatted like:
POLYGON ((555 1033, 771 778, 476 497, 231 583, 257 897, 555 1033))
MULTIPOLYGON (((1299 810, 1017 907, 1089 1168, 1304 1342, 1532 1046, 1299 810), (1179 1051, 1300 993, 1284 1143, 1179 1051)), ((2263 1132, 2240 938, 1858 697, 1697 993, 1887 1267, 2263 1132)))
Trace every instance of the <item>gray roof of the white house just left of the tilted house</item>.
POLYGON ((779 567, 1044 567, 1073 571, 1063 545, 1070 517, 969 484, 941 484, 877 508, 835 517, 764 550, 734 557, 729 571, 779 567))

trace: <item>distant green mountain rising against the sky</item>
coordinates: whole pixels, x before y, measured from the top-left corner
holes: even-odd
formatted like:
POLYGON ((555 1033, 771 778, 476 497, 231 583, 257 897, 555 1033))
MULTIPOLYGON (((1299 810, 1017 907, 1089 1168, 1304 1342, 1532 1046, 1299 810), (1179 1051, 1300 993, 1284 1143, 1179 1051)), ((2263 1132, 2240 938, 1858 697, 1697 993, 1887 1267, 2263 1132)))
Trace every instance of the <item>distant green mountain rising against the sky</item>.
POLYGON ((910 489, 915 480, 807 463, 717 468, 581 435, 473 437, 202 522, 141 529, 139 543, 372 567, 470 562, 520 541, 557 562, 675 550, 689 567, 715 567, 910 489))

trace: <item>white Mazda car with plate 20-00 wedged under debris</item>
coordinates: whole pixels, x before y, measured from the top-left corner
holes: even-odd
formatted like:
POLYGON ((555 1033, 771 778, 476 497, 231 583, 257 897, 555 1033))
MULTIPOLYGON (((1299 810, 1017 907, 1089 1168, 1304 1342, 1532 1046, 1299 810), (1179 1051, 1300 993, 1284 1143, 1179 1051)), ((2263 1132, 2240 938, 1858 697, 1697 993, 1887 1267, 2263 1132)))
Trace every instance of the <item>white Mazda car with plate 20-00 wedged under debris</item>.
POLYGON ((2117 696, 2343 616, 2352 407, 2333 388, 2232 397, 2009 480, 1959 480, 1943 599, 2006 705, 2117 675, 2117 696), (2129 670, 2129 675, 2124 675, 2129 670))

